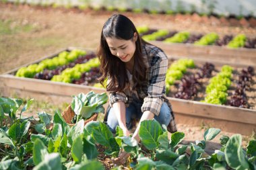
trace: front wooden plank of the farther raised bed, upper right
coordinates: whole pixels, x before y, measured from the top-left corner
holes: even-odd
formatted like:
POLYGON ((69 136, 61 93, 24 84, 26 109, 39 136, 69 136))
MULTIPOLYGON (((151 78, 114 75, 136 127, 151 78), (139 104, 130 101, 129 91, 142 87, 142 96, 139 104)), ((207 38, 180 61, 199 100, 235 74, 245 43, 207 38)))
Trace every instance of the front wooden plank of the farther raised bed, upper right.
POLYGON ((193 44, 166 43, 151 41, 164 52, 172 56, 187 56, 189 58, 204 58, 207 60, 222 61, 223 64, 256 65, 256 50, 249 48, 230 49, 222 46, 195 46, 193 44))

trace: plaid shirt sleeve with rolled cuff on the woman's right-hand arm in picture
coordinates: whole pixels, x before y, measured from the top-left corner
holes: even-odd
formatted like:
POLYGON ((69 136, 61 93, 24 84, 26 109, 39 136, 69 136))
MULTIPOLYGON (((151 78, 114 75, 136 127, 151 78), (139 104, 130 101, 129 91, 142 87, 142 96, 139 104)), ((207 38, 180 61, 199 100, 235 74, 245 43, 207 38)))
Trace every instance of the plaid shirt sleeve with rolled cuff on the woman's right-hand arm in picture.
POLYGON ((153 57, 151 63, 152 76, 148 87, 148 96, 144 98, 141 112, 150 111, 156 116, 159 115, 163 103, 162 96, 165 93, 165 78, 168 68, 168 58, 160 51, 153 57))

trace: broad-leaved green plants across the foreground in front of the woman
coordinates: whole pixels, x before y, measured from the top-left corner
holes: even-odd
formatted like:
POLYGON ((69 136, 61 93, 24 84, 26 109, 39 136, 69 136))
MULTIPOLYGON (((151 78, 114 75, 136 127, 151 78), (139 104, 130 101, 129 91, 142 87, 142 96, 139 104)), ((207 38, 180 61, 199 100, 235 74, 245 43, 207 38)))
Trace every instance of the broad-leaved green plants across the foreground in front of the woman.
MULTIPOLYGON (((83 119, 77 119, 74 126, 69 126, 58 111, 53 116, 39 112, 38 122, 32 117, 22 118, 33 99, 22 109, 20 99, 1 97, 0 101, 1 169, 256 169, 256 140, 249 141, 244 150, 240 134, 222 136, 222 148, 210 155, 205 153, 207 141, 220 133, 218 128, 207 129, 202 140, 185 145, 181 144, 183 132, 171 134, 169 140, 165 126, 146 120, 141 122, 141 144, 137 144, 123 136, 118 126, 117 134, 102 122, 92 121, 85 126, 83 119), (113 167, 107 160, 117 157, 121 149, 131 156, 126 165, 113 167)), ((74 96, 71 105, 77 116, 84 117, 89 108, 94 108, 92 114, 102 112, 97 108, 105 102, 104 94, 88 93, 74 96), (88 105, 81 107, 77 98, 88 105)))

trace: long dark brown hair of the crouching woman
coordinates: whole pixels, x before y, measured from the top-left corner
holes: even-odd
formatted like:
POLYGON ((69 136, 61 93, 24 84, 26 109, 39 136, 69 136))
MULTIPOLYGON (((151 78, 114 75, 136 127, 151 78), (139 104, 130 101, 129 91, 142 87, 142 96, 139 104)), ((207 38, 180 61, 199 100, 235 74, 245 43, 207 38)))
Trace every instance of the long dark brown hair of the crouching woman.
POLYGON ((143 63, 141 40, 133 22, 128 17, 121 14, 115 14, 108 18, 101 32, 100 46, 98 48, 98 58, 100 60, 100 77, 99 81, 103 85, 104 80, 108 77, 107 91, 123 91, 129 83, 125 62, 111 54, 106 38, 117 38, 122 40, 131 40, 137 34, 135 42, 134 67, 133 67, 133 89, 145 81, 146 66, 143 63))

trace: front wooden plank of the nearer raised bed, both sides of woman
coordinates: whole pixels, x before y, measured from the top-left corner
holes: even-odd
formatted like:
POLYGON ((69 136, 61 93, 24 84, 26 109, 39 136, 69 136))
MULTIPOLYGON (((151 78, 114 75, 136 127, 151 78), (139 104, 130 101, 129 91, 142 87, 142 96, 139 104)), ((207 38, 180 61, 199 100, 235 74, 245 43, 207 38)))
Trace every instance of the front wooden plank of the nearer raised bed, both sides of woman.
MULTIPOLYGON (((71 96, 82 92, 88 93, 89 91, 94 91, 95 93, 102 93, 105 91, 96 87, 13 77, 11 75, 1 75, 0 79, 2 86, 5 87, 35 93, 49 93, 51 95, 71 96)), ((234 108, 226 105, 212 105, 172 97, 169 97, 169 100, 172 103, 174 112, 181 114, 256 124, 256 110, 234 108)))

